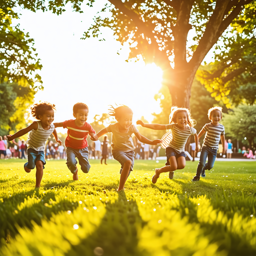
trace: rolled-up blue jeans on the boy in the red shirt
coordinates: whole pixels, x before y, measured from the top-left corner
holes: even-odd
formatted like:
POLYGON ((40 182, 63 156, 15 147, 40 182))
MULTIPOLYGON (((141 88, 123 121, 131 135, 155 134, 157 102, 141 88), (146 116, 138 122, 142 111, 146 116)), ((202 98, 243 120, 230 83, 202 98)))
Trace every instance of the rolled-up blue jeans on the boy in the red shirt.
POLYGON ((72 173, 75 173, 76 164, 77 164, 75 157, 77 157, 79 164, 81 165, 81 170, 84 173, 88 173, 90 169, 88 156, 89 156, 89 151, 87 146, 81 149, 75 149, 67 146, 66 147, 66 165, 68 169, 72 173))

